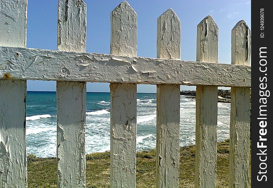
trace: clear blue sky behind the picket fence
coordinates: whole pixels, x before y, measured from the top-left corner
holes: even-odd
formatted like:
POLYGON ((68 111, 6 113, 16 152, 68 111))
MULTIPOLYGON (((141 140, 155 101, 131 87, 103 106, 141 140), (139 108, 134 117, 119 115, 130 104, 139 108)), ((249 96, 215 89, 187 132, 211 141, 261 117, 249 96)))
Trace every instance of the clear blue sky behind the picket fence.
MULTIPOLYGON (((87 48, 110 53, 110 12, 120 0, 85 0, 87 48)), ((231 62, 231 29, 244 19, 251 29, 249 0, 127 0, 137 13, 137 56, 156 58, 157 18, 172 8, 181 21, 181 59, 196 59, 196 26, 211 15, 219 28, 219 63, 231 62)), ((27 47, 57 49, 58 0, 28 0, 27 47)), ((56 81, 28 81, 28 91, 56 91, 56 81)), ((195 86, 180 86, 195 90, 195 86)), ((87 83, 87 91, 109 92, 108 83, 87 83)), ((155 85, 138 85, 137 92, 156 92, 155 85)))

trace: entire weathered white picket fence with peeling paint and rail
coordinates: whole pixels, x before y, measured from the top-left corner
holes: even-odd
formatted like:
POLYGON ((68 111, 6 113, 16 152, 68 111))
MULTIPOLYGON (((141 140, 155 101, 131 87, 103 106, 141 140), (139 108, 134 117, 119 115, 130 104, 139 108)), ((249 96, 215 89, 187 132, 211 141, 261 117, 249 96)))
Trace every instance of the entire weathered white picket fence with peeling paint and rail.
POLYGON ((156 187, 179 187, 179 85, 197 86, 195 187, 216 187, 217 86, 231 86, 229 187, 249 187, 251 39, 243 20, 232 29, 231 64, 218 64, 211 16, 197 25, 196 62, 180 60, 172 9, 157 20, 158 59, 136 57, 137 14, 126 1, 111 13, 111 55, 85 53, 83 0, 59 1, 57 51, 26 48, 26 20, 27 0, 0 3, 0 187, 27 187, 26 80, 57 81, 60 188, 86 184, 86 82, 110 82, 112 188, 136 187, 136 84, 157 84, 156 187))

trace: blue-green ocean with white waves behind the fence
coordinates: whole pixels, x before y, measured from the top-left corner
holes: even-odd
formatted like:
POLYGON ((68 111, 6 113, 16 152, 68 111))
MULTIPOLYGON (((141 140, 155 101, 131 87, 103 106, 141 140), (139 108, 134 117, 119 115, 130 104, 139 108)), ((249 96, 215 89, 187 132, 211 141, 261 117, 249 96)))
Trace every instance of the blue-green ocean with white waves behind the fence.
MULTIPOLYGON (((56 157, 56 92, 27 91, 27 154, 56 157)), ((137 151, 156 147, 156 93, 137 93, 137 151)), ((229 138, 230 103, 218 102, 217 141, 229 138)), ((195 144, 195 99, 180 96, 180 146, 195 144)), ((87 92, 86 154, 110 150, 110 93, 87 92)))

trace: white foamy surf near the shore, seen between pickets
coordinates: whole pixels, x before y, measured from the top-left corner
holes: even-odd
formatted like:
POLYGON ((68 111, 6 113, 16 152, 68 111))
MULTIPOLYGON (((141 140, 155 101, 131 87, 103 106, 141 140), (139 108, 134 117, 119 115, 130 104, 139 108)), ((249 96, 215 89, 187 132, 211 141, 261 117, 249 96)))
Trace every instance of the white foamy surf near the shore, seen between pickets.
MULTIPOLYGON (((110 102, 98 101, 89 103, 103 105, 100 107, 104 109, 94 109, 93 112, 86 113, 86 153, 110 150, 110 102)), ((155 102, 155 96, 137 99, 137 151, 156 147, 155 102)), ((180 146, 195 144, 195 103, 195 99, 180 96, 180 146)), ((43 108, 46 110, 50 107, 43 108)), ((217 141, 229 138, 229 113, 230 104, 218 103, 217 141)), ((26 123, 27 152, 38 157, 56 157, 56 115, 31 116, 27 120, 30 120, 26 123), (45 119, 31 121, 40 118, 45 119)))

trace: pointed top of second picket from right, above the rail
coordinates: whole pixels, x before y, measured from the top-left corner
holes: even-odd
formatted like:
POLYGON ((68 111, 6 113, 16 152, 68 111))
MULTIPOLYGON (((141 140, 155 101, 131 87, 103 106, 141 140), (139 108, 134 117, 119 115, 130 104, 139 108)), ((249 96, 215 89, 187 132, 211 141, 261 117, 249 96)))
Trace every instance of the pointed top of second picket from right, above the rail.
POLYGON ((197 25, 196 61, 218 63, 218 26, 211 15, 197 25))

